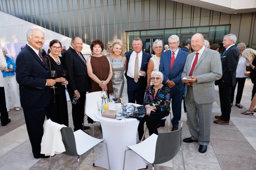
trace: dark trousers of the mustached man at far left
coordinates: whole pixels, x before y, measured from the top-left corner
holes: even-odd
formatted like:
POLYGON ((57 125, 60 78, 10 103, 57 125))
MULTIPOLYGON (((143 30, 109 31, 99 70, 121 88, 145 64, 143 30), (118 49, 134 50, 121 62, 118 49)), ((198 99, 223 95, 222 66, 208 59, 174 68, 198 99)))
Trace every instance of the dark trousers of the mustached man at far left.
POLYGON ((26 128, 29 134, 29 140, 32 146, 34 156, 41 153, 41 141, 44 135, 44 119, 46 108, 25 109, 23 108, 26 128))

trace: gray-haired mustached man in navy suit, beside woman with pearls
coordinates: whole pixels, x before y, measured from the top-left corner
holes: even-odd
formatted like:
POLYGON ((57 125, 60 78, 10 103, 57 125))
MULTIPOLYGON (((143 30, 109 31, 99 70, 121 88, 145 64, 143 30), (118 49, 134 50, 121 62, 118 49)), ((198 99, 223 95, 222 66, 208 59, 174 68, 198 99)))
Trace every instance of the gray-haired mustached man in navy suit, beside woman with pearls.
POLYGON ((41 154, 41 140, 44 134, 45 111, 51 98, 49 86, 53 86, 55 80, 49 79, 49 68, 39 51, 44 45, 44 32, 39 28, 30 28, 26 35, 28 43, 16 59, 20 104, 34 157, 49 158, 41 154))

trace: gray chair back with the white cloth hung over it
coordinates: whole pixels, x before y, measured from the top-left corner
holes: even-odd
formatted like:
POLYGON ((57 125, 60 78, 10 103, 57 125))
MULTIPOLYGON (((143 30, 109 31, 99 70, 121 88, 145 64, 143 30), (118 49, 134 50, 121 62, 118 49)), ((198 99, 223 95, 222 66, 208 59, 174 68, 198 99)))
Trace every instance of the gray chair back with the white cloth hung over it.
POLYGON ((79 156, 76 151, 76 140, 74 132, 71 127, 62 127, 61 128, 62 142, 64 143, 66 151, 65 155, 69 156, 79 156))

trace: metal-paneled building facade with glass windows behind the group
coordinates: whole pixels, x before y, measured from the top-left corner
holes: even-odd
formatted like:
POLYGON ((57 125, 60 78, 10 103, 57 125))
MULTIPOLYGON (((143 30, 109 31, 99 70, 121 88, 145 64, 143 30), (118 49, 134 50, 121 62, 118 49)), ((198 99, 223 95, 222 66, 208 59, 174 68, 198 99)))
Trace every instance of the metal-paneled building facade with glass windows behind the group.
POLYGON ((256 47, 256 0, 250 0, 254 4, 249 10, 235 12, 231 7, 202 1, 0 0, 0 11, 67 37, 78 35, 89 45, 100 39, 106 46, 119 38, 126 51, 132 50, 135 37, 141 37, 143 50, 152 53, 155 39, 167 44, 168 37, 177 34, 184 45, 195 33, 202 33, 210 44, 220 45, 225 34, 233 33, 238 42, 256 47))

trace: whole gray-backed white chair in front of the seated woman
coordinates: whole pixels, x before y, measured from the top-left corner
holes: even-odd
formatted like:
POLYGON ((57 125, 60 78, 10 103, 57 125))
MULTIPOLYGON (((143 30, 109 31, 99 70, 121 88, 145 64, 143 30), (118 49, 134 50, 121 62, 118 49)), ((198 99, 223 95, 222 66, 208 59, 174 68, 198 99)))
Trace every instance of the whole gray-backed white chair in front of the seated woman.
MULTIPOLYGON (((158 136, 153 133, 143 142, 128 146, 127 150, 133 151, 142 157, 145 161, 152 164, 153 170, 154 164, 162 164, 164 162, 170 161, 177 155, 179 150, 181 150, 183 167, 185 170, 183 151, 180 148, 182 126, 183 122, 181 122, 180 128, 178 130, 159 133, 158 136)), ((125 156, 127 150, 125 150, 125 156)), ((123 162, 123 170, 125 167, 125 156, 123 162)))

